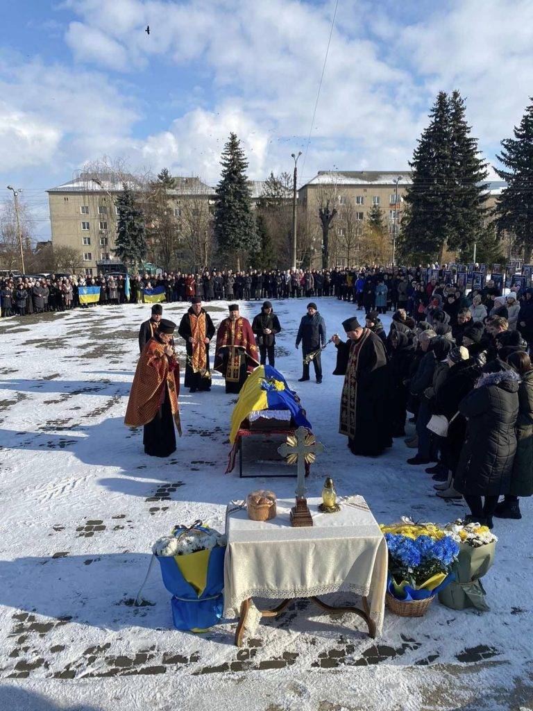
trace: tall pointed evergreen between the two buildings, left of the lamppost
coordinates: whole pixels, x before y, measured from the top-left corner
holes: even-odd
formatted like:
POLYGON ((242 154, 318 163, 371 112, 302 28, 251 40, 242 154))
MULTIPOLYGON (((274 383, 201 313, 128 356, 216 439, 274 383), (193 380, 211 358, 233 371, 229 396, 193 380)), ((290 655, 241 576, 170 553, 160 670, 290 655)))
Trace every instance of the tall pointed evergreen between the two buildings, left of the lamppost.
POLYGON ((235 258, 238 268, 242 253, 258 250, 260 245, 247 185, 248 161, 234 133, 230 134, 220 163, 222 175, 216 189, 215 236, 221 255, 235 258))

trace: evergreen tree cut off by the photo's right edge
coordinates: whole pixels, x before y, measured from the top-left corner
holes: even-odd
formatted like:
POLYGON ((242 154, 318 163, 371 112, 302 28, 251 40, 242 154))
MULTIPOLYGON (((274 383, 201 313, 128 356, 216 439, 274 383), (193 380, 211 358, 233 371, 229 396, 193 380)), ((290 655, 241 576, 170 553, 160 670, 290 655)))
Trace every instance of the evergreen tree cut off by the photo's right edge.
POLYGON ((533 104, 527 107, 513 134, 514 138, 502 141, 497 156, 504 168, 496 172, 507 187, 496 203, 496 224, 500 233, 512 233, 529 264, 533 249, 533 104))

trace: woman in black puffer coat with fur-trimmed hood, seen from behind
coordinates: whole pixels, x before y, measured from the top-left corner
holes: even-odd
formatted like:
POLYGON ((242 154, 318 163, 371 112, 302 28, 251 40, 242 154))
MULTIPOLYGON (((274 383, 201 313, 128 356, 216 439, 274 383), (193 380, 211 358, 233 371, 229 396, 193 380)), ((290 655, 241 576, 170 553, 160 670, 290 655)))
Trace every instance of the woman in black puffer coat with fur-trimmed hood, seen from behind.
POLYGON ((467 520, 489 528, 498 497, 510 491, 519 382, 514 370, 485 373, 459 405, 468 420, 468 432, 453 486, 468 503, 467 520))

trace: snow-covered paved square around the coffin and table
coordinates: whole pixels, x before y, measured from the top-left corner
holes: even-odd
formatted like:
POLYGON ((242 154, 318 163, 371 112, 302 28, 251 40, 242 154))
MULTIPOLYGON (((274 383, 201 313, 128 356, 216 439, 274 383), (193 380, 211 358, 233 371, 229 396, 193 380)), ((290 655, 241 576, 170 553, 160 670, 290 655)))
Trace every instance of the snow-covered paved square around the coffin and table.
MULTIPOLYGON (((215 325, 225 306, 208 304, 215 325)), ((319 306, 328 336, 354 313, 336 299, 319 306)), ((305 307, 274 302, 283 328, 276 366, 327 447, 310 493, 331 475, 340 494, 365 496, 379 522, 463 515, 462 503, 434 496, 424 467, 405 463, 413 452, 403 439, 378 459, 350 454, 338 434, 335 348, 323 353, 322 385, 296 382, 305 307)), ((185 309, 171 304, 165 315, 179 321, 185 309)), ((249 319, 258 309, 242 304, 249 319)), ((496 522, 487 613, 438 602, 422 619, 387 613, 372 641, 359 619, 330 624, 301 601, 237 650, 235 621, 203 635, 174 630, 158 571, 144 593, 152 604, 131 604, 152 542, 173 524, 201 518, 221 529, 230 499, 256 486, 291 496, 295 483, 223 474, 235 396, 219 375, 211 392, 182 390, 176 453, 145 456, 141 431, 123 418, 148 316, 148 305, 106 306, 0 323, 0 711, 531 708, 529 501, 521 521, 496 522)))

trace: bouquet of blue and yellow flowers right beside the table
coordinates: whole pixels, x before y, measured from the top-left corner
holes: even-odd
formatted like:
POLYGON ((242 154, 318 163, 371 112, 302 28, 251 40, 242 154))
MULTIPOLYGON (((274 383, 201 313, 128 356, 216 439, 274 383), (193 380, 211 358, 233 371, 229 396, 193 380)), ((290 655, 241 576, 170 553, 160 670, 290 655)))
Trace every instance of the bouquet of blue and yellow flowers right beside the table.
POLYGON ((451 582, 459 547, 446 531, 409 519, 381 529, 389 550, 389 596, 401 602, 429 602, 451 582))

